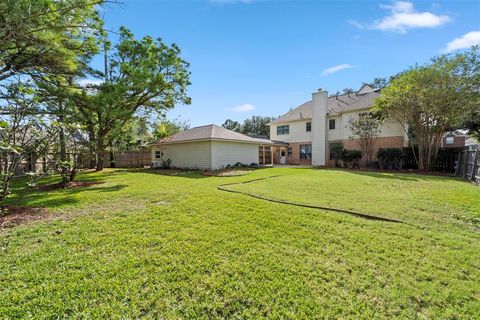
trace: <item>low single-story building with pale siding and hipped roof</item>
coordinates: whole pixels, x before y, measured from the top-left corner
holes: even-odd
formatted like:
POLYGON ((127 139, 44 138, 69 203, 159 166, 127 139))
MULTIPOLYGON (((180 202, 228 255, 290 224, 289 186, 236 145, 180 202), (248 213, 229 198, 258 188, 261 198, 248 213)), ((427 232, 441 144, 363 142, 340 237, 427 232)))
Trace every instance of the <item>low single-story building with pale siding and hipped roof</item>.
POLYGON ((207 170, 218 170, 239 162, 270 164, 273 160, 270 148, 274 145, 274 141, 249 137, 211 124, 179 132, 152 144, 152 165, 161 167, 168 159, 175 168, 207 170))

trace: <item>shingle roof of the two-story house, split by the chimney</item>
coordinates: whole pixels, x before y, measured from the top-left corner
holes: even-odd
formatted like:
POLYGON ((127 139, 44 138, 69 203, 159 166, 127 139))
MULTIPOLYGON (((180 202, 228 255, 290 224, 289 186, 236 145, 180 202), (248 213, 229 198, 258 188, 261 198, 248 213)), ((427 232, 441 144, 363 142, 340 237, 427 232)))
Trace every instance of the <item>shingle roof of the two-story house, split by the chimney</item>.
MULTIPOLYGON (((362 87, 356 93, 342 94, 338 96, 328 97, 327 99, 328 114, 336 115, 343 112, 370 108, 372 106, 373 99, 378 97, 380 93, 378 92, 378 90, 373 91, 373 89, 372 91, 369 91, 366 93, 360 93, 362 92, 362 89, 364 89, 364 87, 362 87)), ((312 116, 313 116, 313 102, 307 101, 304 104, 296 107, 293 110, 290 110, 289 112, 275 119, 271 123, 275 124, 275 123, 298 121, 303 119, 311 119, 312 116)))

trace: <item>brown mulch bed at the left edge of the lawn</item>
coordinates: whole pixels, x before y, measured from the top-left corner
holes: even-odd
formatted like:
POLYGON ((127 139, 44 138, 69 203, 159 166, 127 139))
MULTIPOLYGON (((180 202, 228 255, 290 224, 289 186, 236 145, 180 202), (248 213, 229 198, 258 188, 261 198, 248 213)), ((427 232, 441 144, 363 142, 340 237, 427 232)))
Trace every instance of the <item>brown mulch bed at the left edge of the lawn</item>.
POLYGON ((6 206, 0 212, 0 230, 49 218, 46 208, 6 206))

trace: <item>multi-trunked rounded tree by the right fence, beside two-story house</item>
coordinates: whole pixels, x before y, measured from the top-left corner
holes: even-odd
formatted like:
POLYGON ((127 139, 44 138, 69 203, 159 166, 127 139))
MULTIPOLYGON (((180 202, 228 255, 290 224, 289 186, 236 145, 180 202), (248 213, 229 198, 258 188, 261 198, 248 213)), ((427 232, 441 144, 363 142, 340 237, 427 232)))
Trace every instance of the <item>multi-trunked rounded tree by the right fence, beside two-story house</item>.
POLYGON ((398 75, 375 100, 378 110, 415 136, 419 169, 430 170, 443 135, 479 109, 479 63, 478 48, 440 56, 398 75))

